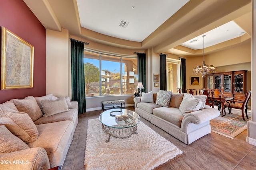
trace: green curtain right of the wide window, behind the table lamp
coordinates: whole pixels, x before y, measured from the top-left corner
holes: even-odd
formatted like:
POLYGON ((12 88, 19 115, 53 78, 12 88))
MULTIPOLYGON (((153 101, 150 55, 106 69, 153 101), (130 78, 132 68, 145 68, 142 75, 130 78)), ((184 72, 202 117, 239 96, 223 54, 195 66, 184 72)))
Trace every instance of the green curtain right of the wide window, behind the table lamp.
POLYGON ((137 53, 138 56, 138 82, 142 82, 144 89, 141 92, 146 93, 147 80, 146 80, 146 53, 137 53))

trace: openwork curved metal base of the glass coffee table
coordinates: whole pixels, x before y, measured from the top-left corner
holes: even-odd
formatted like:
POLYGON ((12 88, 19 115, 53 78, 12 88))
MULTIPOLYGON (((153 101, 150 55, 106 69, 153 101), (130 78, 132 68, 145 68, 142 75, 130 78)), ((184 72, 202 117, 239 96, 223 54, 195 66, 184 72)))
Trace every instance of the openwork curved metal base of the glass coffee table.
POLYGON ((106 125, 101 124, 102 130, 108 135, 108 139, 106 142, 110 141, 110 137, 116 137, 116 138, 127 138, 131 137, 134 134, 137 133, 137 125, 133 127, 126 127, 126 128, 114 128, 114 127, 108 127, 106 125))

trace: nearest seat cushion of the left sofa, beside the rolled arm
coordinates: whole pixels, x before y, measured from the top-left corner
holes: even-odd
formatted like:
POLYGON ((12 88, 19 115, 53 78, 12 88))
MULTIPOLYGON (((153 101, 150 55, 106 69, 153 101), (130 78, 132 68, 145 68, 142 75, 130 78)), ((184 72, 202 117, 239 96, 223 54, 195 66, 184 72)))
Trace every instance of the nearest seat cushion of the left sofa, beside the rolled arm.
POLYGON ((36 127, 39 131, 38 140, 27 145, 30 148, 44 148, 48 154, 51 167, 58 166, 70 146, 74 123, 66 120, 36 125, 36 127))

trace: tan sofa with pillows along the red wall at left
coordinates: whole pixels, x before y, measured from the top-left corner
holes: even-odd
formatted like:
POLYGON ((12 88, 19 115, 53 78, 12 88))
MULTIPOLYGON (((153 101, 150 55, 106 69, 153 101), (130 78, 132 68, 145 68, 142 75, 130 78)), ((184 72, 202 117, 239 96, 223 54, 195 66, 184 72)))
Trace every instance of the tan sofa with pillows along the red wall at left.
POLYGON ((0 104, 0 169, 62 166, 78 123, 78 102, 52 94, 0 104))

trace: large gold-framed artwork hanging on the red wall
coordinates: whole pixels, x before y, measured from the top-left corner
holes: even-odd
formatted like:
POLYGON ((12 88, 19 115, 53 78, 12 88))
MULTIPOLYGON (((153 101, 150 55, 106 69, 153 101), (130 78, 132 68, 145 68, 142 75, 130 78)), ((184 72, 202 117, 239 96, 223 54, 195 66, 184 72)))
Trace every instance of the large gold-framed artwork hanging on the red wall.
POLYGON ((2 26, 1 90, 33 87, 34 46, 2 26))

